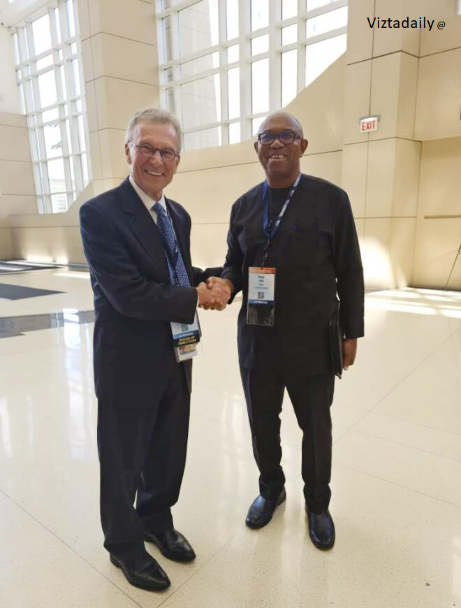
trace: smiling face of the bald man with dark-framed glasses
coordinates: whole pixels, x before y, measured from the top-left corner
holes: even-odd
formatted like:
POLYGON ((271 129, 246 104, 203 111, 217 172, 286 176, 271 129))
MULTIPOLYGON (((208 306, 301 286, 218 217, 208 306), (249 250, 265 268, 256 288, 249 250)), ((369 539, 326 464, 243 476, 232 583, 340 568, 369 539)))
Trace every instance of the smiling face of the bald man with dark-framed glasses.
POLYGON ((280 143, 275 139, 270 145, 254 143, 258 159, 264 168, 268 184, 273 188, 291 186, 300 172, 300 157, 307 148, 307 140, 302 138, 300 124, 295 118, 286 113, 268 116, 261 124, 258 133, 273 133, 279 135, 290 131, 299 136, 291 144, 280 143))

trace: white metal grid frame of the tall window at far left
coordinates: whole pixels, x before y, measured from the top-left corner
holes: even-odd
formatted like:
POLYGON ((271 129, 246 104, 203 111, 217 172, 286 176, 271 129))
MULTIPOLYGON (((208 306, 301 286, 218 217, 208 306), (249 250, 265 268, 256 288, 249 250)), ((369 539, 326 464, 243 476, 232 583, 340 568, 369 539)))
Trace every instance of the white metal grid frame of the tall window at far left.
POLYGON ((77 0, 73 0, 73 19, 75 36, 69 34, 67 11, 68 0, 55 0, 47 6, 32 13, 26 20, 19 22, 11 29, 17 41, 19 62, 15 64, 17 85, 24 99, 24 113, 29 127, 29 144, 34 172, 36 201, 39 213, 56 213, 68 210, 75 198, 91 180, 91 162, 89 159, 89 129, 87 124, 87 106, 85 99, 85 82, 82 71, 82 45, 79 36, 77 0), (55 10, 57 13, 55 13, 55 10), (36 54, 32 23, 44 15, 50 22, 51 48, 36 54), (57 24, 59 17, 59 29, 57 24), (75 45, 75 48, 73 48, 75 45), (52 55, 49 66, 37 69, 37 61, 52 55), (76 92, 73 61, 78 65, 78 90, 76 92), (54 73, 57 100, 49 106, 41 106, 38 78, 47 72, 54 73), (64 82, 63 82, 64 78, 64 82), (57 118, 43 122, 43 113, 57 110, 57 118), (83 146, 80 142, 78 122, 83 121, 83 146), (61 136, 61 154, 47 158, 43 128, 59 123, 61 136), (68 128, 67 128, 68 123, 68 128), (47 161, 62 159, 64 164, 64 184, 62 191, 52 192, 48 175, 47 161), (87 180, 84 179, 84 168, 87 180), (53 196, 66 196, 66 207, 53 202, 53 196))

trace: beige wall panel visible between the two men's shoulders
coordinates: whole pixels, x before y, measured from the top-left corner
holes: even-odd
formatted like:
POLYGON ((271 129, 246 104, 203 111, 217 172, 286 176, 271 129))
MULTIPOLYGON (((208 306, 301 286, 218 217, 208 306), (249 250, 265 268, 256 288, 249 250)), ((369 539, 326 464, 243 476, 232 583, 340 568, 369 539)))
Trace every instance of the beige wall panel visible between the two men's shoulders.
POLYGON ((231 206, 239 196, 264 180, 259 163, 177 173, 165 194, 191 214, 198 224, 228 222, 231 206))

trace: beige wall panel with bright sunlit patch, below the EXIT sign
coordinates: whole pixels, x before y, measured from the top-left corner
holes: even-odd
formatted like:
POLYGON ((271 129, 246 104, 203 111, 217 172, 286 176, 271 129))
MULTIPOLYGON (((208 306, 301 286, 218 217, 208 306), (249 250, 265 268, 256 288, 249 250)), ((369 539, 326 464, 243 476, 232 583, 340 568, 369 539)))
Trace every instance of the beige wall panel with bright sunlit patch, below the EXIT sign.
POLYGON ((390 226, 390 218, 365 219, 360 251, 367 289, 392 289, 395 286, 389 252, 390 226))

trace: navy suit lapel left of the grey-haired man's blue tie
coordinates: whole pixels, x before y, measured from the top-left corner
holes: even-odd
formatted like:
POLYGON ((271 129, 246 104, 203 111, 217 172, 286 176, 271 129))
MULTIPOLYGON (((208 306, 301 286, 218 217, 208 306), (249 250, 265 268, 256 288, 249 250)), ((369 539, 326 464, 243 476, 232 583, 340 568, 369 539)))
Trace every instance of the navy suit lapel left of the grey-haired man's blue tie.
POLYGON ((161 270, 164 280, 168 282, 168 265, 159 229, 152 217, 149 217, 149 212, 131 186, 128 178, 121 184, 120 188, 124 194, 122 208, 126 213, 131 231, 154 264, 161 270))

